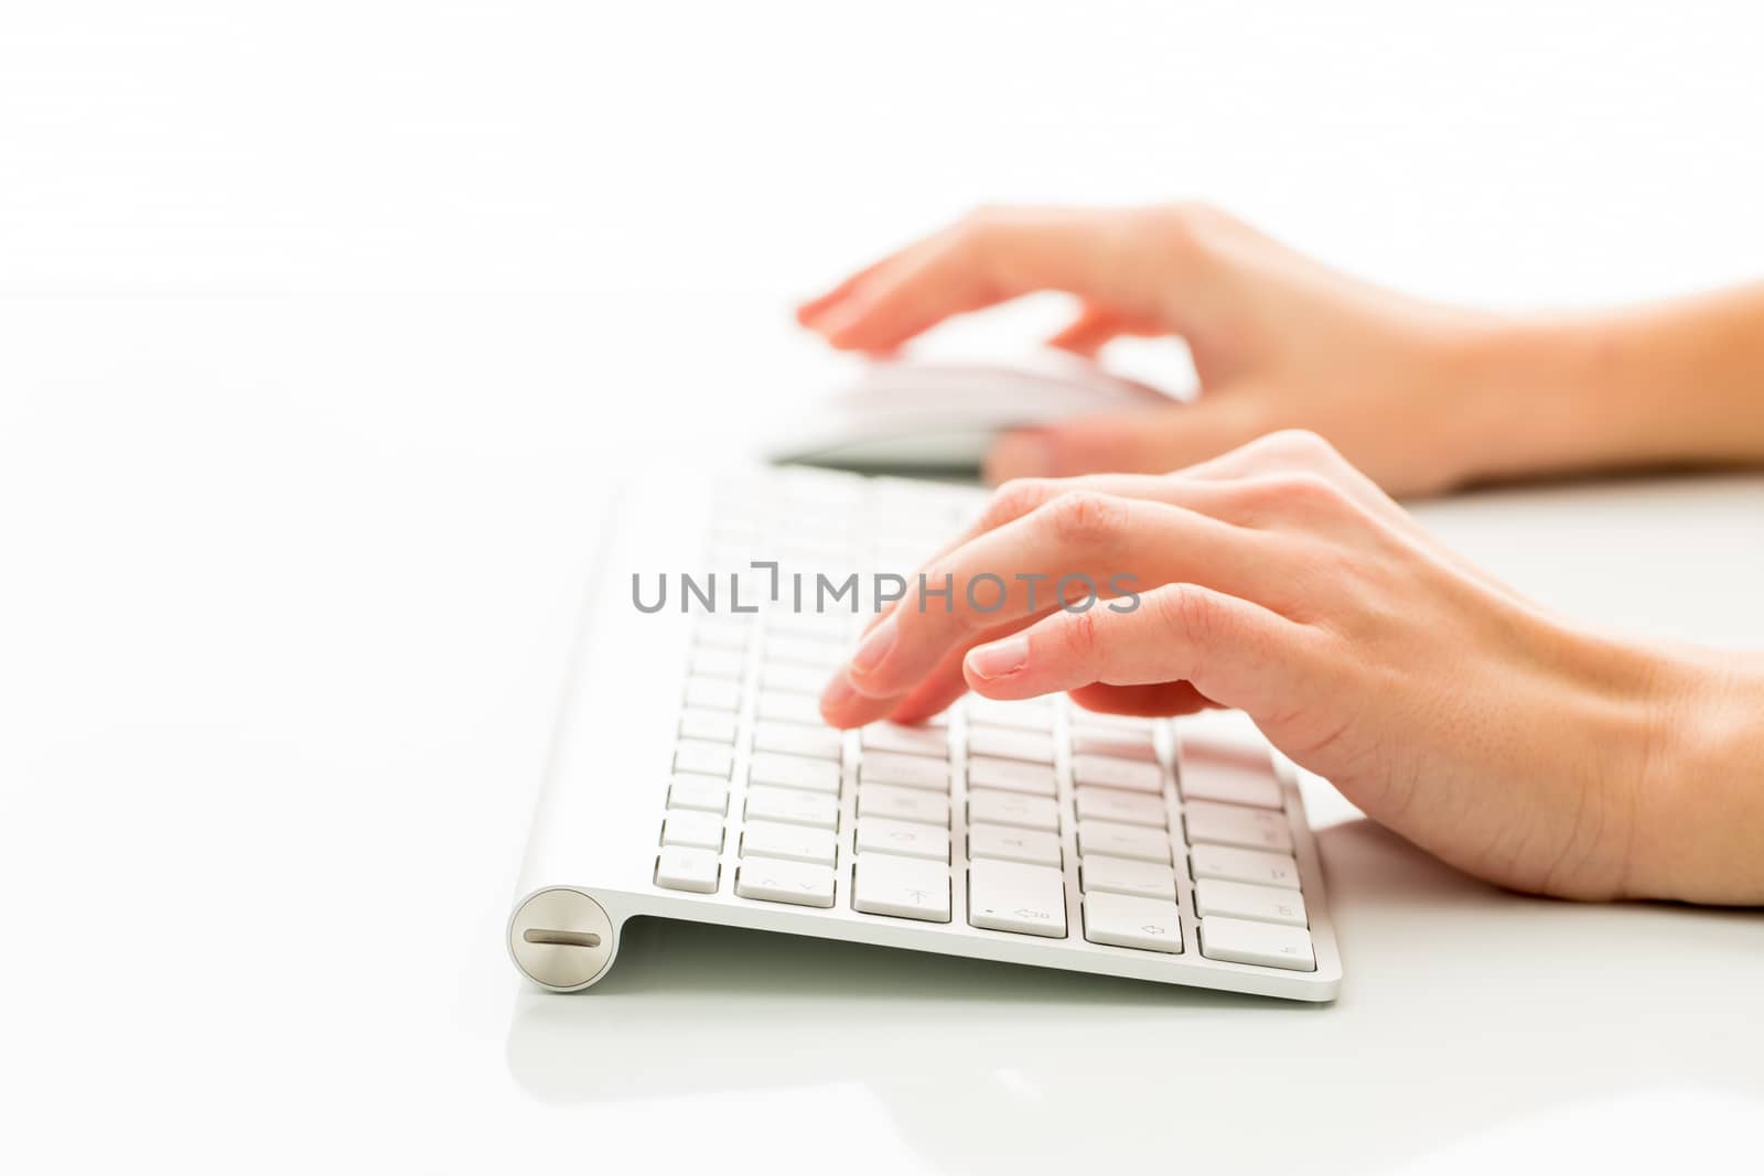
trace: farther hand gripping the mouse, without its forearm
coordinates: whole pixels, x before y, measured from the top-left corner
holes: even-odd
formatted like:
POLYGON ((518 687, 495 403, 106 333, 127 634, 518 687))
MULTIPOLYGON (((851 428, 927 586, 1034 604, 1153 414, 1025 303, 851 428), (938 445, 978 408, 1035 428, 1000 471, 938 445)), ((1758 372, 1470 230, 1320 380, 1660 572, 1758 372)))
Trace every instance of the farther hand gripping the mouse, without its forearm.
POLYGON ((1485 319, 1346 279, 1208 208, 981 212, 797 317, 834 347, 886 353, 1041 289, 1081 303, 1055 346, 1095 354, 1120 335, 1182 337, 1201 398, 1011 434, 988 458, 993 481, 1162 473, 1291 427, 1328 435, 1394 494, 1482 473, 1466 421, 1489 416, 1468 376, 1485 319))

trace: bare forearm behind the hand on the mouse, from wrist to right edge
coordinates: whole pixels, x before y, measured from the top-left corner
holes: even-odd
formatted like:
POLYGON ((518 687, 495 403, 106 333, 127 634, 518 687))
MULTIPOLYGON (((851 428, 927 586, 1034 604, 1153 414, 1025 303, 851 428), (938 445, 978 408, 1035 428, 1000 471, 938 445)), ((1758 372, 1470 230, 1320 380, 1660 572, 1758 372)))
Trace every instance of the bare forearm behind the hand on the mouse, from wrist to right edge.
POLYGON ((1764 462, 1764 286, 1503 323, 1464 351, 1468 480, 1764 462))

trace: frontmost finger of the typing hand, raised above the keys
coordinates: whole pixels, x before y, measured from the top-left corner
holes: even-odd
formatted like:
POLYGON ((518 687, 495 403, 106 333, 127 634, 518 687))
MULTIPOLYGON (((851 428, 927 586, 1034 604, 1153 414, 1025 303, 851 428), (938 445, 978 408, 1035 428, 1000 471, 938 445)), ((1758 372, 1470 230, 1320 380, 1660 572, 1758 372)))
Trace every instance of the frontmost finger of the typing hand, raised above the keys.
POLYGON ((1034 698, 1108 686, 1191 682, 1251 718, 1309 702, 1321 658, 1312 631, 1247 599, 1164 584, 1132 612, 1057 612, 1023 633, 968 652, 968 688, 1034 698))

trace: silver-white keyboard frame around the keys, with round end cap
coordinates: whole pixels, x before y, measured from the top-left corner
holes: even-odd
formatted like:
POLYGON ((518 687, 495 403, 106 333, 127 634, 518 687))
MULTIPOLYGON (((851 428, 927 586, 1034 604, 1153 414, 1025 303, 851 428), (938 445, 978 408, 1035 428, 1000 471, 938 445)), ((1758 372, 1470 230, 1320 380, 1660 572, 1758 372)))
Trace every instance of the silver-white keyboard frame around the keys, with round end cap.
MULTIPOLYGON (((951 488, 960 494, 961 488, 951 488)), ((662 820, 672 767, 681 691, 693 619, 677 612, 644 615, 632 607, 632 573, 695 566, 714 497, 711 476, 630 483, 614 495, 600 543, 600 562, 584 605, 547 779, 513 910, 508 950, 515 966, 552 991, 580 991, 603 979, 617 956, 626 920, 662 917, 755 931, 780 931, 972 959, 1090 971, 1286 1000, 1328 1001, 1341 989, 1341 956, 1297 774, 1279 755, 1275 770, 1293 832, 1293 857, 1311 922, 1314 971, 1289 971, 1207 959, 1200 952, 1194 883, 1178 862, 1182 952, 1162 954, 1090 943, 1083 938, 1080 859, 1065 705, 1057 730, 1058 804, 1065 873, 1067 936, 1060 940, 990 931, 967 922, 965 741, 953 741, 951 922, 933 924, 852 910, 852 837, 856 830, 857 733, 845 735, 840 788, 840 860, 833 908, 789 906, 734 894, 739 864, 741 804, 757 691, 759 658, 748 651, 741 739, 730 776, 721 876, 714 894, 670 890, 654 883, 662 820), (559 934, 561 933, 561 934, 559 934)), ((951 718, 954 735, 965 719, 951 718)), ((1171 783, 1171 732, 1159 725, 1170 829, 1180 829, 1180 797, 1171 783)))

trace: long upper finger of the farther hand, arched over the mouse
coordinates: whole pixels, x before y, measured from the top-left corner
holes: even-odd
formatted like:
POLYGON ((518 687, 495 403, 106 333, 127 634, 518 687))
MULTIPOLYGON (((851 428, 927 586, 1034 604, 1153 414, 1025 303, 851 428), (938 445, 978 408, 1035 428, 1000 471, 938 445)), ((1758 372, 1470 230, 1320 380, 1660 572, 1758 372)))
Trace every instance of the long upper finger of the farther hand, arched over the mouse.
POLYGON ((1110 303, 1161 321, 1178 277, 1147 264, 1131 213, 1115 210, 1002 210, 968 217, 884 266, 817 323, 829 342, 887 349, 968 310, 1041 289, 1110 303))

